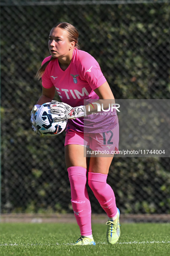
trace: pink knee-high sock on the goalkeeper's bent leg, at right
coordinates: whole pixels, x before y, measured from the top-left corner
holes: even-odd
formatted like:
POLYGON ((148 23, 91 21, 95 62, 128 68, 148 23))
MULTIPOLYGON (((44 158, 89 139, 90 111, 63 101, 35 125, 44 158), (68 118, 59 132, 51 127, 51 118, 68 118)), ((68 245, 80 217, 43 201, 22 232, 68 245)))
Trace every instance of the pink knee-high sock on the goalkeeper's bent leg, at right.
POLYGON ((117 213, 115 196, 110 185, 106 183, 107 175, 102 173, 88 173, 89 187, 98 199, 101 207, 109 218, 113 218, 117 213))

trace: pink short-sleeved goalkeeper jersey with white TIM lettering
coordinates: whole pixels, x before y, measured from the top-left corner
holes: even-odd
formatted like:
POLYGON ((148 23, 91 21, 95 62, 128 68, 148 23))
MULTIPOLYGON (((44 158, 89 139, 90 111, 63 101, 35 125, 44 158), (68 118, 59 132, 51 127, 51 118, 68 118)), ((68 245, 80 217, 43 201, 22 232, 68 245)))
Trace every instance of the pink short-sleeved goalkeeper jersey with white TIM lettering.
MULTIPOLYGON (((50 58, 46 57, 42 64, 50 58)), ((42 76, 43 87, 55 86, 61 101, 72 107, 84 105, 84 100, 99 99, 93 90, 105 82, 98 62, 89 53, 78 49, 74 49, 71 63, 65 71, 60 68, 58 58, 55 58, 49 62, 42 76)), ((83 127, 83 118, 68 120, 67 130, 83 132, 83 127)))

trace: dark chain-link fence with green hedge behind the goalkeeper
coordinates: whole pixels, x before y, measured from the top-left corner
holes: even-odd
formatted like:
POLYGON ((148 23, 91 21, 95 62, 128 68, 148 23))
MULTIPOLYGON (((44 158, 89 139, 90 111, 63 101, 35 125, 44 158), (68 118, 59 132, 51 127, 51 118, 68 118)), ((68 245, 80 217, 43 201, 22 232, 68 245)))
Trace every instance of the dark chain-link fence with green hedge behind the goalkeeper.
MULTIPOLYGON (((169 3, 1 0, 2 213, 72 213, 65 134, 40 138, 30 126, 51 28, 66 21, 79 29, 81 49, 99 62, 116 99, 169 99, 169 3)), ((115 157, 108 183, 121 212, 170 213, 169 165, 169 157, 115 157)), ((88 190, 92 212, 103 213, 88 190)))

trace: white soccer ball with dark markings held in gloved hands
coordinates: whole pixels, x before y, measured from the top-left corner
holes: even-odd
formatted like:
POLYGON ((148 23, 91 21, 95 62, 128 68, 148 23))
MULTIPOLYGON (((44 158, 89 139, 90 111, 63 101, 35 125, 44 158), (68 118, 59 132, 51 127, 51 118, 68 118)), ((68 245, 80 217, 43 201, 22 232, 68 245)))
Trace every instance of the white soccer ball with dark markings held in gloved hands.
POLYGON ((54 117, 57 114, 53 114, 50 111, 51 102, 44 103, 35 112, 35 125, 37 129, 47 136, 54 136, 60 134, 67 125, 67 120, 60 122, 54 121, 54 117))

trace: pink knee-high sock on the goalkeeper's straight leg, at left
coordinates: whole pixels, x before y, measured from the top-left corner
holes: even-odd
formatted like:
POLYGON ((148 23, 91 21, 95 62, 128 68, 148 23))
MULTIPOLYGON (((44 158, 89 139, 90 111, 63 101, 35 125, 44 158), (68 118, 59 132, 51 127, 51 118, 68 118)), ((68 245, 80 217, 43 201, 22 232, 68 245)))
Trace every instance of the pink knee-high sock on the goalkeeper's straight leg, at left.
POLYGON ((71 187, 71 203, 81 235, 91 235, 91 205, 86 188, 87 170, 80 166, 68 169, 71 187))

